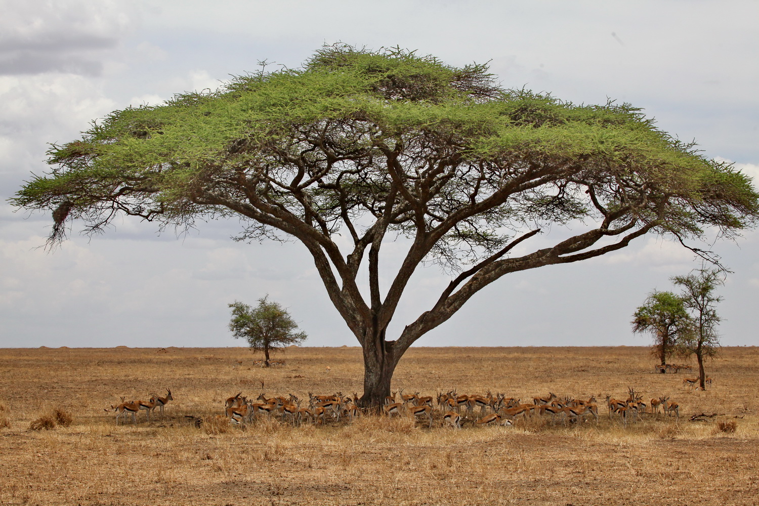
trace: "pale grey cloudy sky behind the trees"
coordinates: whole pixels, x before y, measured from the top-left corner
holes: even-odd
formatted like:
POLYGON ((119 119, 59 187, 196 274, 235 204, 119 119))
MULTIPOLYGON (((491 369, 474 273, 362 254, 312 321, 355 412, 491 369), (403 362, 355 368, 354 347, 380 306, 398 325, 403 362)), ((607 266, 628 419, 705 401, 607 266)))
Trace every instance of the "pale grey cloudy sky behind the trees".
MULTIPOLYGON (((490 61, 504 86, 572 102, 631 102, 663 130, 759 176, 759 2, 0 1, 0 347, 235 346, 227 304, 269 294, 308 345, 355 345, 299 244, 237 244, 236 222, 177 237, 124 218, 55 253, 48 214, 6 199, 46 171, 48 143, 185 90, 215 89, 267 60, 298 67, 324 43, 402 46, 449 64, 490 61)), ((76 229, 76 224, 74 224, 76 229)), ((759 344, 759 232, 710 247, 734 271, 723 344, 759 344)), ((400 245, 398 245, 400 247, 400 245)), ((631 313, 698 267, 643 237, 618 253, 502 278, 421 345, 642 345, 631 313)), ((449 278, 419 272, 391 328, 449 278)))

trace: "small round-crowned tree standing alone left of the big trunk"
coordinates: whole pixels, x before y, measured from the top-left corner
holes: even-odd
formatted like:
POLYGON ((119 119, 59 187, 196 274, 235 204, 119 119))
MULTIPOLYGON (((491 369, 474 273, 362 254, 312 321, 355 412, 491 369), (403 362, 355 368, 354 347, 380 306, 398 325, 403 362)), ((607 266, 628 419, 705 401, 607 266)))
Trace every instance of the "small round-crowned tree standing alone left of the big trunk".
POLYGON ((235 338, 247 339, 251 350, 263 351, 266 367, 269 367, 270 350, 281 350, 307 337, 305 332, 294 332, 298 323, 279 303, 268 299, 268 295, 259 299, 255 308, 238 300, 229 304, 232 308, 229 330, 235 338))

